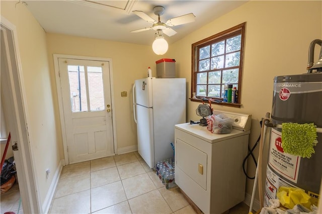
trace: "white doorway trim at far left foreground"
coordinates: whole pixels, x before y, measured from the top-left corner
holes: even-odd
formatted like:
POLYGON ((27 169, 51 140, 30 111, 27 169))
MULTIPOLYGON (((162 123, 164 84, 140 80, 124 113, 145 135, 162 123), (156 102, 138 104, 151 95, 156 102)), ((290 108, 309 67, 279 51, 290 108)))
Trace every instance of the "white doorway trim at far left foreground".
POLYGON ((17 175, 19 179, 19 189, 22 199, 23 210, 25 213, 43 212, 38 191, 38 183, 35 177, 35 163, 33 162, 33 152, 30 148, 30 136, 28 131, 28 109, 25 91, 22 65, 18 45, 18 36, 16 26, 1 16, 1 29, 4 31, 4 40, 6 43, 6 55, 8 57, 8 75, 10 81, 8 84, 12 90, 12 103, 9 105, 13 108, 13 117, 17 125, 17 175), (19 168, 18 168, 19 167, 19 168), (19 170, 19 171, 18 171, 19 170))

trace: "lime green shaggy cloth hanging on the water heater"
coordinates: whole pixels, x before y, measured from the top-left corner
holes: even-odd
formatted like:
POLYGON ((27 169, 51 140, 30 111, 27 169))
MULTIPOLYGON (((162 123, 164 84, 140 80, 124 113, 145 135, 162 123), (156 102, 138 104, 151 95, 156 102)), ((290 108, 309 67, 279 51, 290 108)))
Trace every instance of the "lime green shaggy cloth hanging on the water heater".
POLYGON ((317 144, 316 126, 314 124, 282 124, 282 147, 291 155, 310 158, 317 144))

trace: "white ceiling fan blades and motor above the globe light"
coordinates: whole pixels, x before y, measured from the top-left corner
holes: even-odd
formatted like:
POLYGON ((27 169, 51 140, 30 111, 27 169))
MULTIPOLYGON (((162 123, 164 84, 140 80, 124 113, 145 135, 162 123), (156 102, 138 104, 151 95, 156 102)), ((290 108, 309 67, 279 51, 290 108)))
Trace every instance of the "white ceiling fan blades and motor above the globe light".
POLYGON ((145 20, 148 23, 152 23, 153 25, 150 28, 142 28, 142 29, 131 31, 131 33, 138 33, 138 32, 148 31, 148 30, 152 29, 152 30, 157 31, 158 34, 159 34, 159 31, 161 31, 164 34, 166 34, 167 36, 173 36, 177 32, 175 30, 173 30, 172 28, 170 28, 170 27, 174 27, 174 26, 194 22, 195 18, 196 18, 195 15, 193 15, 193 13, 190 13, 190 14, 186 14, 186 15, 183 15, 183 16, 180 16, 180 17, 169 19, 166 23, 163 23, 163 22, 160 22, 160 16, 163 15, 164 12, 165 12, 164 7, 155 6, 153 8, 153 13, 158 17, 158 21, 155 21, 153 18, 151 18, 150 16, 146 15, 142 11, 133 11, 133 13, 135 15, 137 15, 138 17, 140 17, 141 19, 145 20))

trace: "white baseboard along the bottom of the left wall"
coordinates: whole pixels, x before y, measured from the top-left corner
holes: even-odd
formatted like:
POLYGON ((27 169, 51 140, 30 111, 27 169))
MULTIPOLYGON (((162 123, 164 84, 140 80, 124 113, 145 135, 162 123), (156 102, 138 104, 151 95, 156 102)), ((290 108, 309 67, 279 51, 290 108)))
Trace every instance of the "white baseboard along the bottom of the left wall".
POLYGON ((55 171, 55 174, 54 174, 54 177, 53 177, 53 179, 51 181, 50 187, 48 189, 46 198, 44 200, 44 203, 42 204, 43 213, 48 213, 49 212, 51 201, 52 201, 52 199, 54 197, 54 194, 55 194, 55 191, 56 191, 56 188, 57 188, 57 184, 58 184, 58 181, 59 181, 59 176, 60 176, 62 166, 63 166, 64 163, 65 163, 64 159, 60 160, 60 162, 58 164, 58 167, 57 167, 57 170, 55 171))

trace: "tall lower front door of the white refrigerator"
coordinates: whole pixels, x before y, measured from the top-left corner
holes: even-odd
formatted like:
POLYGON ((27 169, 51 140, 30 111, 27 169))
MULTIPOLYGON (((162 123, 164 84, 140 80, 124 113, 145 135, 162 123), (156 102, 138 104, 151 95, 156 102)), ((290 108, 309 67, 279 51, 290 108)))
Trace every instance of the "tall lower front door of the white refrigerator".
POLYGON ((152 109, 136 105, 137 111, 137 149, 138 153, 149 165, 154 167, 154 144, 153 144, 153 123, 152 109))

